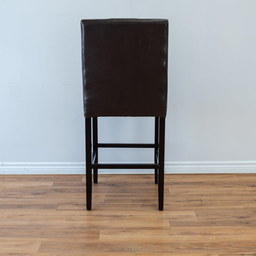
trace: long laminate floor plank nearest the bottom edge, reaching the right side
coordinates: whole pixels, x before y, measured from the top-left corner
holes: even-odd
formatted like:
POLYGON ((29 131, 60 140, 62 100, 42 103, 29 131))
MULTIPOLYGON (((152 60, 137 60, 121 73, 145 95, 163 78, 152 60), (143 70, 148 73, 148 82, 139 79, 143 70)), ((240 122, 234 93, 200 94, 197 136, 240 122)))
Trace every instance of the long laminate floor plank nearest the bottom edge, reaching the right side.
MULTIPOLYGON (((51 243, 47 241, 43 241, 38 249, 38 254, 46 252, 58 252, 58 253, 68 253, 68 252, 77 252, 81 253, 84 252, 85 255, 108 255, 112 252, 119 252, 119 253, 134 253, 133 255, 162 255, 162 253, 169 253, 169 255, 176 255, 179 252, 182 252, 183 255, 190 255, 193 251, 204 253, 203 255, 207 255, 207 253, 215 252, 216 254, 220 251, 227 252, 227 248, 229 248, 229 252, 241 252, 241 251, 252 251, 255 249, 254 241, 246 242, 198 242, 198 241, 177 241, 177 242, 168 242, 168 244, 162 243, 161 244, 151 244, 151 243, 133 243, 133 242, 117 242, 117 243, 104 243, 104 242, 97 242, 97 243, 68 243, 62 244, 61 242, 58 243, 51 243), (244 246, 247 246, 247 249, 244 250, 244 246)), ((65 254, 64 254, 65 255, 65 254)), ((180 254, 178 254, 180 255, 180 254)), ((182 255, 182 254, 181 254, 182 255)), ((192 254, 193 255, 193 254, 192 254)), ((218 254, 217 254, 218 255, 218 254)))

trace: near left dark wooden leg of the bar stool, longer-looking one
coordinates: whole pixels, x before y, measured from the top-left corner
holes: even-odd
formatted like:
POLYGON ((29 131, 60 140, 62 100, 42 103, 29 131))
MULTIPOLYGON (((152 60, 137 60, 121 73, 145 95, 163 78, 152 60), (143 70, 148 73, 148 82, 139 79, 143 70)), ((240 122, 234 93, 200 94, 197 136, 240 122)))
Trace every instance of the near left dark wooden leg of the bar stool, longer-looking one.
POLYGON ((92 209, 92 121, 85 117, 86 209, 92 209))

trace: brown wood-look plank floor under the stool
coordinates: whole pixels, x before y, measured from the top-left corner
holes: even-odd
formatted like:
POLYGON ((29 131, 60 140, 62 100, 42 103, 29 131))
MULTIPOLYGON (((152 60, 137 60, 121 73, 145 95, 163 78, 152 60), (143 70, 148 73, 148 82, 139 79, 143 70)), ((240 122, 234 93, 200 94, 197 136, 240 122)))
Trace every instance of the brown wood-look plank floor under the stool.
POLYGON ((256 255, 256 174, 0 176, 0 255, 256 255))

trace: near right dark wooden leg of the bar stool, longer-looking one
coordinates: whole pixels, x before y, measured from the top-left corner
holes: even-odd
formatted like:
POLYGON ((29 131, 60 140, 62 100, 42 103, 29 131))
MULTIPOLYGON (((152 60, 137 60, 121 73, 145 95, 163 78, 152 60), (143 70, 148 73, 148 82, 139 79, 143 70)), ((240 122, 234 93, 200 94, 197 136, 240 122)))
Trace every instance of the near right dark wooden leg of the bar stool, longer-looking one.
POLYGON ((159 120, 159 169, 158 169, 158 205, 159 211, 164 210, 164 139, 165 118, 159 120))

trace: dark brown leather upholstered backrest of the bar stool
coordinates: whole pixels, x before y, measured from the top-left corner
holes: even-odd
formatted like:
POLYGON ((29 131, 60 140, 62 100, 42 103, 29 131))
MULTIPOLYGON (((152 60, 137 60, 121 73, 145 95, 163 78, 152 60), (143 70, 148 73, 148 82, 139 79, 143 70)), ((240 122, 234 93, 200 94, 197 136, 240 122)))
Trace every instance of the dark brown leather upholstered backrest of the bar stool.
POLYGON ((82 20, 84 116, 166 116, 168 20, 82 20))

